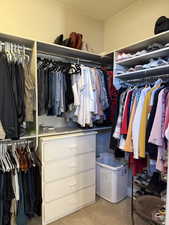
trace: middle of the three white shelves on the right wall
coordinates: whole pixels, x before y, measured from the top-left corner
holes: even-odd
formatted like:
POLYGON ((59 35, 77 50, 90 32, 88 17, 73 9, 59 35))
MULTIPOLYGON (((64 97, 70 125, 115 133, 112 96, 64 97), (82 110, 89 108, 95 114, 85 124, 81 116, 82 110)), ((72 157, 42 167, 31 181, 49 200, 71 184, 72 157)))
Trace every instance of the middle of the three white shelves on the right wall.
POLYGON ((122 66, 132 66, 132 65, 143 64, 146 61, 148 61, 150 58, 158 58, 158 57, 166 57, 166 56, 169 56, 169 47, 148 52, 140 56, 135 56, 128 59, 119 60, 119 61, 116 61, 116 64, 120 64, 122 66))

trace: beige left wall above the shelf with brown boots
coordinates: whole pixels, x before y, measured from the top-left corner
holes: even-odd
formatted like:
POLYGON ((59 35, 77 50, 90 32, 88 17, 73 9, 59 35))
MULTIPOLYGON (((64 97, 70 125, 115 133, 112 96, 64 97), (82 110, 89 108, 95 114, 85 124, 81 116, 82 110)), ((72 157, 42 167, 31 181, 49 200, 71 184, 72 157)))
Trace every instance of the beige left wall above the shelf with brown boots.
POLYGON ((103 51, 104 23, 57 0, 2 0, 0 32, 53 42, 60 33, 80 32, 95 52, 103 51))

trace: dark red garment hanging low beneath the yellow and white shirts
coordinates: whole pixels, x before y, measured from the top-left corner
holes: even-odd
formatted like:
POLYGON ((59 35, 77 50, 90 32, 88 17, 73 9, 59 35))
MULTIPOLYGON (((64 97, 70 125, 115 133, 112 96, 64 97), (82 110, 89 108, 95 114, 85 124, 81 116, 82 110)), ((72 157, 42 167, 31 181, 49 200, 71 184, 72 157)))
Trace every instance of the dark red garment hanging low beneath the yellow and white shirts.
POLYGON ((147 159, 134 159, 134 154, 130 153, 129 168, 132 168, 133 176, 137 176, 138 173, 142 173, 147 167, 147 159))

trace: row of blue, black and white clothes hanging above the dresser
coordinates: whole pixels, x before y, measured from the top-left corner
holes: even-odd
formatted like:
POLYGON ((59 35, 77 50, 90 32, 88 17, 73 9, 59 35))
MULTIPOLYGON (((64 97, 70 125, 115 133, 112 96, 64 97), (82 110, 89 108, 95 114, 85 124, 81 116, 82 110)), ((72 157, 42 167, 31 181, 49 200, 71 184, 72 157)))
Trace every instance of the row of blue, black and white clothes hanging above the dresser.
POLYGON ((66 117, 81 127, 111 122, 109 77, 101 68, 38 58, 39 116, 66 117))

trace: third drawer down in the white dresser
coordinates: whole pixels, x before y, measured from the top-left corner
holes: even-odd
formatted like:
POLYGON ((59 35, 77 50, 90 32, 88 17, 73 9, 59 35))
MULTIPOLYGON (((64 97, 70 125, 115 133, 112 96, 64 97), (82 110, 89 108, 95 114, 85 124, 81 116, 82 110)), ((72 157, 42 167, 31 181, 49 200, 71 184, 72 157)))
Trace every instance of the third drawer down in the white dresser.
POLYGON ((95 185, 95 169, 65 179, 51 182, 44 187, 44 200, 50 202, 80 189, 95 185))

